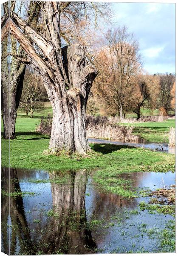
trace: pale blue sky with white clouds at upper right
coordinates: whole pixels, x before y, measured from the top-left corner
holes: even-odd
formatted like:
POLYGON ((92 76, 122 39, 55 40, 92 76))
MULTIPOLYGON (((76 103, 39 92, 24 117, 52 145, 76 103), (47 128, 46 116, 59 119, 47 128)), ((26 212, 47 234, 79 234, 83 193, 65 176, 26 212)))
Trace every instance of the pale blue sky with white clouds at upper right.
POLYGON ((175 4, 112 3, 114 26, 125 24, 139 42, 144 69, 175 73, 175 4))

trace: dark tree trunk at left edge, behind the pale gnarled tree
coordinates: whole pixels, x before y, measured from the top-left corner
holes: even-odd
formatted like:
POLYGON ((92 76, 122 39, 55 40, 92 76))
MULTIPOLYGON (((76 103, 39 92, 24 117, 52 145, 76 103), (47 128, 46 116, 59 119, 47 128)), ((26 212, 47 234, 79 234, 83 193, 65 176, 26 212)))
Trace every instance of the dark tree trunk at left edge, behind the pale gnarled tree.
MULTIPOLYGON (((1 41, 3 41, 1 49, 4 57, 1 68, 1 73, 3 74, 1 77, 1 111, 4 127, 3 137, 5 139, 15 138, 17 109, 23 88, 25 67, 26 64, 29 64, 17 40, 12 34, 10 36, 8 35, 9 29, 6 26, 9 12, 12 13, 15 9, 18 9, 17 12, 20 12, 22 2, 19 3, 18 5, 16 1, 10 1, 10 8, 8 6, 9 2, 3 4, 4 15, 1 22, 3 32, 1 36, 1 41)), ((27 16, 28 25, 31 24, 32 27, 37 25, 39 12, 40 9, 37 2, 30 2, 27 16)))

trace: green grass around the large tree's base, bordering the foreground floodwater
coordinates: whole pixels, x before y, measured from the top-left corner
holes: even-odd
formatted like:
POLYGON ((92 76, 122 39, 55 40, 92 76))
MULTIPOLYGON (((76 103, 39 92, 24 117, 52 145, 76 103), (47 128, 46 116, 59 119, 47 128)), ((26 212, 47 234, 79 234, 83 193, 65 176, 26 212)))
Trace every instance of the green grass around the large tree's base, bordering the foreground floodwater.
MULTIPOLYGON (((47 115, 47 113, 46 113, 47 115)), ((169 125, 173 120, 167 121, 169 125)), ((101 189, 113 192, 127 198, 137 196, 136 191, 131 191, 130 181, 119 177, 125 172, 168 172, 175 169, 175 156, 160 152, 149 151, 144 148, 133 148, 127 145, 91 144, 89 157, 54 156, 45 155, 43 151, 48 148, 49 136, 36 132, 40 123, 40 114, 35 118, 27 118, 19 113, 16 124, 17 139, 11 141, 11 167, 23 169, 66 170, 95 169, 93 179, 101 189), (18 152, 18 153, 17 153, 18 152)), ((161 123, 149 125, 156 131, 164 131, 166 127, 161 123), (162 125, 162 126, 161 126, 162 125)), ((138 127, 139 128, 139 127, 138 127)), ((3 148, 1 164, 8 166, 7 141, 1 140, 3 148)), ((65 179, 65 178, 64 178, 65 179)), ((42 180, 41 180, 42 181, 42 180)), ((67 180, 59 180, 59 183, 67 180)), ((54 183, 58 180, 54 180, 54 183)))

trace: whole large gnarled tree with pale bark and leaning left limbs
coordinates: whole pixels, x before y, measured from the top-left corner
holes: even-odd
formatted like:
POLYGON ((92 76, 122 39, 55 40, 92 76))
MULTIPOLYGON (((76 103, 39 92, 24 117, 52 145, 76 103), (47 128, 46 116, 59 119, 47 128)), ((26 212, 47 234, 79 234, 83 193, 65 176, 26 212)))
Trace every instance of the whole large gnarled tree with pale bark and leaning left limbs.
POLYGON ((53 108, 53 123, 48 152, 86 154, 85 112, 90 87, 97 70, 88 64, 86 47, 73 44, 61 48, 60 2, 42 2, 43 37, 13 13, 11 33, 40 71, 53 108), (23 30, 23 33, 20 29, 23 30), (42 50, 41 57, 31 44, 42 50))

